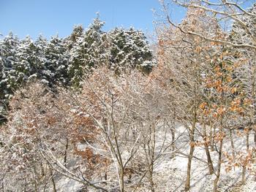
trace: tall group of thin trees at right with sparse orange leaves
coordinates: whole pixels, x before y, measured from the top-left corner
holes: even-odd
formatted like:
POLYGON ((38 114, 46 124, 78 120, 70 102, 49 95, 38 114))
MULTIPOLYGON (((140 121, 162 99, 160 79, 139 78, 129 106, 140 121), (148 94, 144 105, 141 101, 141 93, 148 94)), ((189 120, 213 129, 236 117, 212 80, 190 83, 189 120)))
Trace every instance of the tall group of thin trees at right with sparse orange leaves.
POLYGON ((185 190, 190 189, 195 147, 201 145, 206 150, 209 173, 215 174, 213 191, 217 191, 225 159, 223 154, 230 162, 226 171, 232 166, 241 167, 241 182, 245 183, 246 169, 255 161, 252 158, 255 146, 249 145, 252 132, 256 138, 252 123, 255 115, 249 112, 255 106, 255 56, 250 55, 255 55, 255 5, 246 10, 240 1, 171 3, 187 9, 187 18, 176 25, 168 13, 167 4, 162 1, 168 24, 159 27, 159 53, 163 68, 172 74, 172 88, 187 99, 181 108, 188 110, 184 118, 186 124, 191 123, 187 127, 190 150, 185 190), (232 23, 230 31, 224 30, 225 23, 232 23), (200 123, 200 127, 196 123, 200 123), (238 128, 244 130, 246 149, 243 150, 236 150, 233 143, 233 134, 238 128), (195 140, 195 134, 202 139, 195 140), (227 138, 231 150, 223 148, 227 138), (213 150, 215 147, 217 151, 216 170, 208 147, 213 150), (227 155, 229 153, 232 155, 227 155))

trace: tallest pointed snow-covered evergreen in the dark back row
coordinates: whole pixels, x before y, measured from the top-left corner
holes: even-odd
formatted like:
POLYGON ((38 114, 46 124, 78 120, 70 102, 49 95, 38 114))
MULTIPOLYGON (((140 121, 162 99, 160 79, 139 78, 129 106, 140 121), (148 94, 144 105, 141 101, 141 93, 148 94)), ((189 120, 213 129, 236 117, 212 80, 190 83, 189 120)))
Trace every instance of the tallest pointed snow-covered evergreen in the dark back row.
MULTIPOLYGON (((81 78, 91 72, 91 69, 107 61, 103 25, 104 22, 98 16, 83 34, 70 38, 73 42, 75 39, 75 43, 70 50, 68 73, 75 87, 80 87, 81 78)), ((74 31, 72 34, 75 34, 74 31)))

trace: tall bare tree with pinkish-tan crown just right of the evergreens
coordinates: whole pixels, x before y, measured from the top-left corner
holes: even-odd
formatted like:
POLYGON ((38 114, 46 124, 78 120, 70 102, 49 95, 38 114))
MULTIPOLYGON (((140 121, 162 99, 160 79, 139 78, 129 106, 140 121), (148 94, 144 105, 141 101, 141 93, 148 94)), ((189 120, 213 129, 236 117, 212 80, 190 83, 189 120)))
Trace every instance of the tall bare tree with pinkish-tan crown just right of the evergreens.
MULTIPOLYGON (((206 12, 200 9, 189 9, 187 19, 181 23, 180 27, 204 33, 208 37, 221 35, 216 20, 208 18, 206 12), (211 28, 208 26, 211 26, 211 28)), ((169 26, 169 29, 162 31, 160 28, 159 34, 159 45, 162 49, 162 52, 160 50, 160 56, 164 58, 162 63, 169 69, 172 90, 178 99, 178 107, 180 107, 178 110, 180 113, 178 114, 181 115, 184 112, 180 119, 182 123, 186 122, 184 126, 189 132, 190 150, 185 183, 185 190, 188 191, 190 188, 192 157, 195 150, 195 131, 198 131, 202 137, 206 137, 206 130, 200 131, 196 123, 201 119, 199 114, 200 104, 205 99, 203 81, 210 70, 207 62, 214 54, 217 54, 219 48, 218 46, 211 48, 212 45, 206 42, 205 39, 186 34, 179 28, 173 28, 173 26, 169 26)), ((202 120, 205 121, 204 118, 202 120)), ((204 126, 204 129, 206 129, 206 126, 204 126)), ((209 172, 212 174, 214 170, 211 156, 207 145, 205 148, 209 172)))

